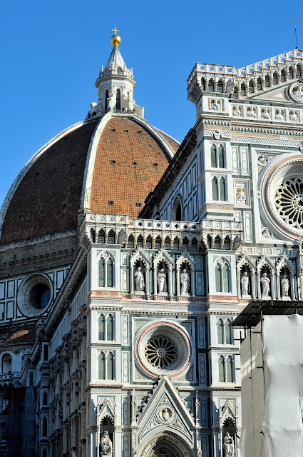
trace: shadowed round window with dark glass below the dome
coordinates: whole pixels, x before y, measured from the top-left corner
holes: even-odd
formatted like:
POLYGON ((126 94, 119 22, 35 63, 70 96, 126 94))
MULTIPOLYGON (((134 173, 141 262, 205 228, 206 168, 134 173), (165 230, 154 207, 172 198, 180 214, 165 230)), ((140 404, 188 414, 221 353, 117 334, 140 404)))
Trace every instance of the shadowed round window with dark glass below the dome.
POLYGON ((28 276, 18 291, 19 310, 24 316, 36 317, 46 311, 53 296, 51 280, 43 273, 28 276))

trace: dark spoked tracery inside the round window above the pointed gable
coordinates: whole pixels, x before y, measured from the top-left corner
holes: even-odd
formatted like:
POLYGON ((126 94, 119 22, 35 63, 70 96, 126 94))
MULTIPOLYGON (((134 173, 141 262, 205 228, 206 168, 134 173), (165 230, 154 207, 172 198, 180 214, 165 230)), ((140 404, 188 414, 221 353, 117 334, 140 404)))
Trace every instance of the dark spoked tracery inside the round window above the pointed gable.
POLYGON ((169 368, 177 358, 177 347, 167 336, 153 336, 145 346, 145 357, 155 368, 169 368))

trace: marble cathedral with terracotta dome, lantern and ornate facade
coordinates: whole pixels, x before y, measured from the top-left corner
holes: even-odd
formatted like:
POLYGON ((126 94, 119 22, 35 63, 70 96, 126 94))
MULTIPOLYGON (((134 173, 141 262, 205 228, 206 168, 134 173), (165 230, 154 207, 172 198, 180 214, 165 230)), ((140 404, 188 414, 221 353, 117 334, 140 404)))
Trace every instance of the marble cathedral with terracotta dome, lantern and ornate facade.
POLYGON ((303 51, 196 63, 180 144, 111 43, 1 208, 0 456, 240 457, 232 321, 303 299, 303 51))

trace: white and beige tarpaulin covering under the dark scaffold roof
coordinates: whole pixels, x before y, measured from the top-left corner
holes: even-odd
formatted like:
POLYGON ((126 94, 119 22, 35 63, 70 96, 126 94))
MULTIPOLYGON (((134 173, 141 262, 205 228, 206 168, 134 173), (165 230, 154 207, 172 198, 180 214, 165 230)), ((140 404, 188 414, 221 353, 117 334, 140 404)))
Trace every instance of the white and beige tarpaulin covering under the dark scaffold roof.
POLYGON ((253 333, 260 325, 241 345, 241 456, 302 457, 303 316, 265 316, 253 333))

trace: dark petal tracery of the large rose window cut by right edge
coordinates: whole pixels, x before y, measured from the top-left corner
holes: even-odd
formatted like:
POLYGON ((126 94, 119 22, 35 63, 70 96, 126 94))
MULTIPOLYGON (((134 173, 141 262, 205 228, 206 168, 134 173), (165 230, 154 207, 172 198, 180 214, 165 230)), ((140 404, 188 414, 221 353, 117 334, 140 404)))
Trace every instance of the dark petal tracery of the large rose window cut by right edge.
POLYGON ((303 179, 289 178, 276 190, 277 214, 294 229, 303 229, 303 179))

